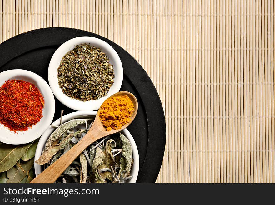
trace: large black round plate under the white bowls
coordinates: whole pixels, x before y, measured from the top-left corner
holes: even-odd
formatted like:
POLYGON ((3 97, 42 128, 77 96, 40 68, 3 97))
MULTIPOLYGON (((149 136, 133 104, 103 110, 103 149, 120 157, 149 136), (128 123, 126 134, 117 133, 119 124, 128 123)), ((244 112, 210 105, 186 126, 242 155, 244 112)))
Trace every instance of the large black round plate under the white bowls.
MULTIPOLYGON (((91 32, 72 28, 42 28, 17 35, 0 44, 0 72, 25 69, 41 76, 48 82, 49 62, 56 49, 71 38, 92 36, 110 44, 123 65, 121 90, 133 93, 138 99, 138 114, 128 130, 138 146, 140 166, 138 183, 154 183, 163 160, 166 129, 163 107, 157 90, 139 63, 114 42, 91 32)), ((54 120, 74 110, 55 98, 54 120)))

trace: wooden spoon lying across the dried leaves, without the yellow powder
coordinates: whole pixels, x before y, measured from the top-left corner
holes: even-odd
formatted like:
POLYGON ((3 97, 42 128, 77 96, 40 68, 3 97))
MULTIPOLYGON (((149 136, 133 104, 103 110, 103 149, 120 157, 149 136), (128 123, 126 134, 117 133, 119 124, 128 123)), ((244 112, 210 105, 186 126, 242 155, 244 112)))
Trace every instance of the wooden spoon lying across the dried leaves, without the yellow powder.
POLYGON ((130 117, 131 121, 124 125, 121 129, 112 129, 111 131, 106 131, 105 127, 99 118, 99 113, 101 111, 101 107, 98 110, 96 118, 93 122, 92 127, 89 129, 87 134, 81 139, 76 145, 74 145, 68 152, 63 154, 57 161, 55 161, 51 166, 45 169, 42 173, 40 173, 36 178, 34 178, 31 183, 54 183, 58 177, 65 171, 65 169, 72 164, 72 162, 78 157, 79 154, 83 152, 90 144, 97 141, 98 139, 105 137, 110 134, 117 133, 126 127, 128 127, 131 122, 133 122, 134 118, 137 115, 138 111, 138 101, 136 97, 127 91, 121 91, 109 98, 118 97, 121 95, 128 95, 128 97, 132 100, 134 104, 134 112, 130 117))

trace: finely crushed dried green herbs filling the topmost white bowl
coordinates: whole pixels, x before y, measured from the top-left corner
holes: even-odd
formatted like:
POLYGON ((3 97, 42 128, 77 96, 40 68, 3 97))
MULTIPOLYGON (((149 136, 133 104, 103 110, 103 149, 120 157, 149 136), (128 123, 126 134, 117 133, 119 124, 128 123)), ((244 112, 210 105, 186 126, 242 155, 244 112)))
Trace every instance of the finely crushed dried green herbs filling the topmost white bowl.
POLYGON ((87 43, 69 51, 58 67, 58 83, 63 93, 82 101, 107 95, 113 78, 114 69, 108 56, 87 43))

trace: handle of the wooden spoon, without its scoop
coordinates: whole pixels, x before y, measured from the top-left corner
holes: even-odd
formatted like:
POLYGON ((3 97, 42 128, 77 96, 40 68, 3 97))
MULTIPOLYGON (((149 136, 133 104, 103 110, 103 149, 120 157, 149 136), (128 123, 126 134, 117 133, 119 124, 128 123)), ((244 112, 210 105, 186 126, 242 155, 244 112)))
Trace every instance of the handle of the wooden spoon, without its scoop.
POLYGON ((82 140, 74 145, 68 152, 63 154, 51 166, 40 173, 30 183, 54 183, 58 177, 65 171, 65 169, 72 164, 79 154, 83 152, 90 144, 97 139, 93 138, 91 134, 86 134, 82 140))

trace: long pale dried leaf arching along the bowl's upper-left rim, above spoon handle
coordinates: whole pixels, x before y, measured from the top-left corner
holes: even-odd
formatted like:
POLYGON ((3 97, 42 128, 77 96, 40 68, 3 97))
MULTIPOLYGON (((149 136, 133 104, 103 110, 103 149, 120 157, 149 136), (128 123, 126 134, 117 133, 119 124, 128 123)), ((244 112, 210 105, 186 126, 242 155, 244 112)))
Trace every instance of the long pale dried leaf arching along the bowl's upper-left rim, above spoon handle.
POLYGON ((85 121, 87 120, 91 120, 91 119, 73 119, 60 125, 56 130, 53 131, 53 133, 47 140, 44 151, 49 149, 58 138, 62 137, 62 135, 65 132, 67 132, 70 129, 73 129, 79 124, 84 124, 85 121))

